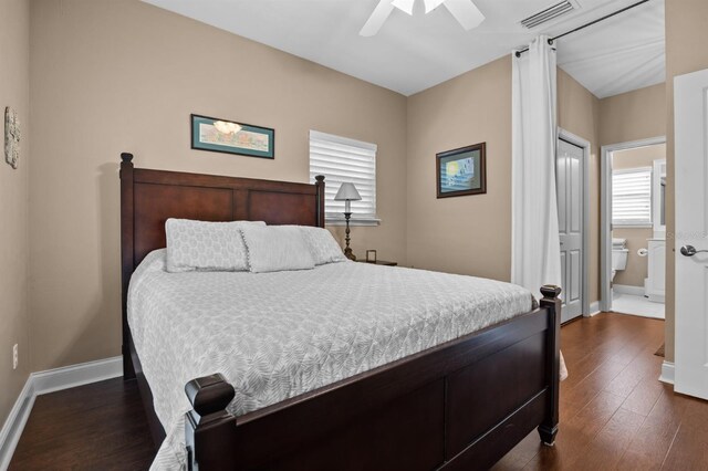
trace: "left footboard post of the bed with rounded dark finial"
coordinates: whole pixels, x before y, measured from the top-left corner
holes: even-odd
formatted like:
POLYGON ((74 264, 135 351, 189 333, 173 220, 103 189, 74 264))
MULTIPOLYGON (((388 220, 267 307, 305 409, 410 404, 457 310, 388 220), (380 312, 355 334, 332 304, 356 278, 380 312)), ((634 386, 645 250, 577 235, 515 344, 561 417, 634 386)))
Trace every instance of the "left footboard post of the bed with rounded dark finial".
POLYGON ((220 374, 192 379, 185 385, 191 407, 186 414, 185 439, 190 470, 236 469, 236 417, 226 410, 236 396, 220 374))

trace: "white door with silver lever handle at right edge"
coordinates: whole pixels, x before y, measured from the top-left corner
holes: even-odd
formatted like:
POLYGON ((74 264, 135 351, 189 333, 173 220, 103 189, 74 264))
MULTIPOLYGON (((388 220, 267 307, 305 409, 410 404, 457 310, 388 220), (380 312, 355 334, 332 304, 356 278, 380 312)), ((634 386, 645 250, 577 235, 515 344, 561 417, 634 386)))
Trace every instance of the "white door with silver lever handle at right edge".
POLYGON ((674 80, 675 390, 708 399, 708 70, 674 80))

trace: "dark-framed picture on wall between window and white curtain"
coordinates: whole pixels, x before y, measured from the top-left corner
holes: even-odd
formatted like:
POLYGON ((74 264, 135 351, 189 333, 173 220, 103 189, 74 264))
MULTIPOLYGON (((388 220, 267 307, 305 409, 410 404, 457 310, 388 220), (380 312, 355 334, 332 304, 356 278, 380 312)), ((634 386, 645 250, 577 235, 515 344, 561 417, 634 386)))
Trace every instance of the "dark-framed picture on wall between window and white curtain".
POLYGON ((438 198, 487 192, 487 143, 436 155, 438 198))

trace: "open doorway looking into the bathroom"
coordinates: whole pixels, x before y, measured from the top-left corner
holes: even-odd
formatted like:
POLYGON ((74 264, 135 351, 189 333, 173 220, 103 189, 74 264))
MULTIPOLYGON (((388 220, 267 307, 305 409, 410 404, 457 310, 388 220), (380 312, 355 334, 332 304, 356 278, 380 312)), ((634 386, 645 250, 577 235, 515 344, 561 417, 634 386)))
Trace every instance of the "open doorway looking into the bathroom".
POLYGON ((666 138, 603 146, 602 311, 664 318, 666 138))

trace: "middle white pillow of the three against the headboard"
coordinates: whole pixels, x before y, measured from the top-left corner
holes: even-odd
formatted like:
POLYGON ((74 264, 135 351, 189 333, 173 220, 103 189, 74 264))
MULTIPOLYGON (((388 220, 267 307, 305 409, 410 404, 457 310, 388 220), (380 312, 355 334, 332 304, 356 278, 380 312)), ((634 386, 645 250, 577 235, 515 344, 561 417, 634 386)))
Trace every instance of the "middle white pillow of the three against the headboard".
POLYGON ((314 258, 295 226, 246 226, 241 228, 251 272, 314 269, 314 258))

